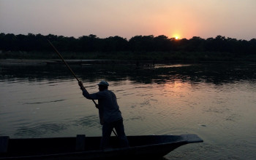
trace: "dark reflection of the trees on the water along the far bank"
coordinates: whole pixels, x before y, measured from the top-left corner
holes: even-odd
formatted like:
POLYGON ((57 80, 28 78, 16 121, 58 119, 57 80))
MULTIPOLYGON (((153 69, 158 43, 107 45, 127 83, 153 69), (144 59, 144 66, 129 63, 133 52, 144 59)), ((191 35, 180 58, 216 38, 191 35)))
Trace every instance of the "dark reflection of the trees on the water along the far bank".
MULTIPOLYGON (((255 64, 246 63, 200 63, 154 65, 151 68, 136 68, 135 65, 71 65, 72 70, 85 81, 123 81, 134 83, 165 84, 170 81, 183 81, 189 84, 198 82, 225 84, 234 81, 255 81, 255 64)), ((1 66, 0 81, 56 81, 73 79, 64 65, 5 65, 1 66)))

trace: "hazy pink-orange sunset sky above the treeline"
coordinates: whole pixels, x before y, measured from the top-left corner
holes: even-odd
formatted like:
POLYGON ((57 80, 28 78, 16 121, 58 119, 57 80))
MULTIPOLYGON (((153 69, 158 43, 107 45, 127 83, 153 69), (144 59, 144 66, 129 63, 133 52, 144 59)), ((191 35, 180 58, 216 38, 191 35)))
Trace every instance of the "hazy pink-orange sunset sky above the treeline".
POLYGON ((0 33, 256 38, 256 0, 0 0, 0 33))

